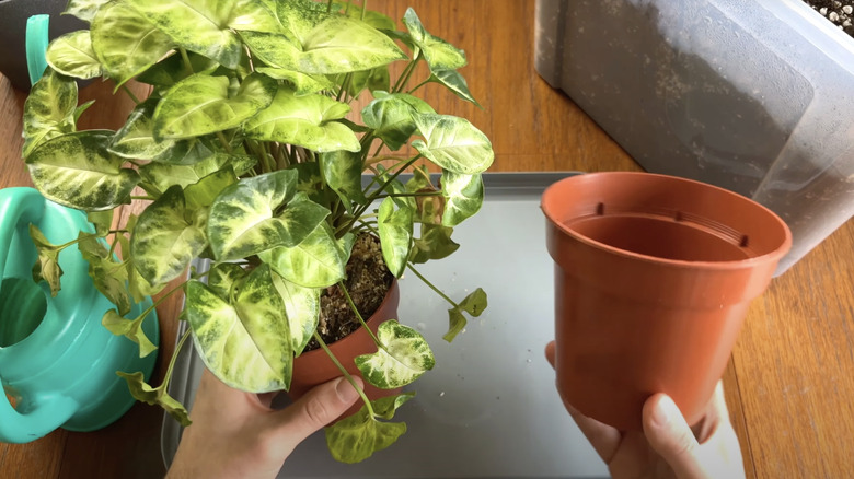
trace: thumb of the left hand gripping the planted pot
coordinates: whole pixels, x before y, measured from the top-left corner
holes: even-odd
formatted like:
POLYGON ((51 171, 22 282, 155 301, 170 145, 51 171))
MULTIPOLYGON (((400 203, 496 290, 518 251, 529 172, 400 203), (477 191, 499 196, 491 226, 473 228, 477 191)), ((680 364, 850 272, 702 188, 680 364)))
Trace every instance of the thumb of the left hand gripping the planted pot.
MULTIPOLYGON (((354 377, 362 387, 362 381, 354 377)), ((344 377, 314 387, 293 405, 276 412, 278 434, 287 451, 337 419, 359 398, 359 393, 344 377)))

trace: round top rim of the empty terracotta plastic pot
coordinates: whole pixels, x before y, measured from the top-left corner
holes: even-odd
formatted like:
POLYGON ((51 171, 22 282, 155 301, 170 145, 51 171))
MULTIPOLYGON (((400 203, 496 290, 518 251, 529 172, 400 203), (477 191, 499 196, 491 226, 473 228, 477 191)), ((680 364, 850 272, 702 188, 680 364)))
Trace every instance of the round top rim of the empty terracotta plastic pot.
POLYGON ((639 260, 644 262, 650 262, 656 264, 660 266, 668 266, 672 268, 691 268, 691 269, 705 269, 705 270, 736 270, 736 269, 748 269, 753 268, 762 264, 768 262, 774 262, 776 264, 783 256, 785 256, 788 250, 792 248, 792 231, 789 230, 788 225, 786 224, 783 219, 781 219, 776 213, 774 213, 771 209, 766 208, 763 205, 760 205, 759 202, 747 198, 742 195, 739 195, 737 192, 730 191, 728 189, 709 185, 707 183, 697 182, 694 179, 689 178, 682 178, 678 176, 671 176, 671 175, 662 175, 657 173, 647 173, 647 172, 593 172, 593 173, 585 173, 581 175, 575 175, 570 176, 564 179, 561 179, 558 182, 553 183, 550 185, 545 191, 543 191, 543 195, 541 197, 540 202, 540 209, 543 211, 543 214, 545 215, 549 223, 551 223, 557 231, 572 236, 573 238, 579 241, 580 243, 585 244, 586 246, 601 249, 607 253, 610 253, 615 256, 620 256, 627 259, 633 260, 639 260), (555 220, 555 212, 550 210, 550 208, 546 206, 547 201, 546 198, 550 195, 554 195, 555 191, 561 190, 562 188, 568 187, 569 184, 573 183, 579 183, 579 182, 587 182, 591 177, 601 177, 601 176, 611 176, 611 177, 658 177, 658 178, 665 178, 668 182, 673 183, 682 183, 682 184, 689 184, 693 185, 695 188, 702 188, 707 190, 713 190, 717 195, 724 195, 731 198, 737 198, 738 201, 745 203, 746 207, 758 209, 765 214, 768 214, 770 218, 774 219, 775 222, 782 226, 784 238, 783 242, 772 252, 765 253, 763 255, 757 255, 745 259, 734 259, 734 260, 727 260, 727 261, 708 261, 708 260, 684 260, 684 259, 671 259, 671 258, 661 258, 657 256, 650 256, 650 255, 644 255, 641 253, 631 252, 627 249, 618 248, 615 246, 611 246, 607 243, 602 243, 596 240, 592 240, 586 235, 582 235, 572 227, 567 226, 566 224, 563 224, 559 221, 555 220))

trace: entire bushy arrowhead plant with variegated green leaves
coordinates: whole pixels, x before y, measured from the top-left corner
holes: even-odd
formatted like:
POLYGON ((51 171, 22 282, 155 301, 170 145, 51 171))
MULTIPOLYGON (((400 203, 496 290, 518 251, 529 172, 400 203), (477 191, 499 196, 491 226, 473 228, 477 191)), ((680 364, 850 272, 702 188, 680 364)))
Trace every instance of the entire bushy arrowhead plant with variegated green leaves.
MULTIPOLYGON (((154 349, 142 320, 183 292, 182 343, 192 338, 232 387, 282 390, 312 338, 333 355, 316 330, 324 289, 342 288, 366 327, 343 280, 355 237, 370 234, 394 277, 408 270, 448 301, 452 341, 466 315, 486 307, 486 293, 453 300, 416 267, 459 247, 453 227, 483 203, 492 144, 469 120, 417 96, 438 84, 477 105, 458 71, 465 54, 412 9, 399 28, 360 3, 70 0, 66 13, 90 28, 49 45, 49 67, 24 105, 22 155, 36 188, 86 211, 95 232, 53 245, 31 227, 34 278, 56 293, 57 255, 78 244, 115 304, 102 323, 141 355, 154 349), (96 77, 137 104, 117 131, 77 128, 90 104, 78 105, 76 79, 96 77), (150 85, 149 95, 134 96, 129 81, 150 85), (113 214, 130 202, 143 207, 138 215, 113 214), (210 260, 207 271, 192 267, 199 258, 210 260), (152 294, 160 299, 151 308, 125 317, 152 294)), ((434 366, 425 338, 396 319, 371 337, 374 353, 333 361, 355 361, 365 381, 385 389, 434 366)), ((157 387, 136 372, 119 375, 139 400, 188 424, 168 394, 174 361, 157 387)), ((360 395, 361 411, 326 428, 338 460, 362 460, 406 431, 393 417, 413 393, 360 395)))

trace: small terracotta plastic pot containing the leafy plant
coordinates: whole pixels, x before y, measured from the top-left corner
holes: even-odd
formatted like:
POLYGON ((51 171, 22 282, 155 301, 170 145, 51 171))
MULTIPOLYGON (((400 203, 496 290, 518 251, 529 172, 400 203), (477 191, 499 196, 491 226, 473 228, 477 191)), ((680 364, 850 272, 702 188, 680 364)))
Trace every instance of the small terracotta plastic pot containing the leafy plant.
MULTIPOLYGON (((400 289, 397 280, 394 280, 385 294, 385 299, 380 307, 365 323, 376 334, 377 328, 388 319, 396 319, 397 303, 400 302, 400 289)), ((328 344, 330 351, 342 363, 348 373, 361 377, 359 369, 356 367, 354 359, 357 355, 370 354, 377 352, 377 344, 373 343, 368 331, 361 327, 344 339, 328 344)), ((293 375, 290 383, 288 396, 297 400, 309 392, 312 387, 323 384, 327 381, 341 376, 342 373, 335 363, 323 349, 314 349, 303 352, 293 360, 293 375)), ((385 396, 392 396, 401 392, 397 389, 380 389, 368 382, 365 382, 365 394, 369 399, 374 400, 385 396)), ((362 401, 358 400, 342 417, 347 417, 358 411, 362 407, 362 401)))

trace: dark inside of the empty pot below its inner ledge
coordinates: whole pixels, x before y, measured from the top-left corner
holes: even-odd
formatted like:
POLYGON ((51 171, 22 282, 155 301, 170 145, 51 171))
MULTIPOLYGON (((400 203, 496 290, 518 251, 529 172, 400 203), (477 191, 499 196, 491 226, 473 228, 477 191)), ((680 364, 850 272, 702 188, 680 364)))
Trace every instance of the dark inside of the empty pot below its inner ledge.
POLYGON ((751 256, 726 235, 717 235, 700 225, 672 219, 643 215, 586 217, 567 226, 608 246, 656 258, 737 261, 751 256))

